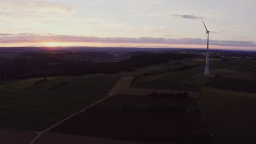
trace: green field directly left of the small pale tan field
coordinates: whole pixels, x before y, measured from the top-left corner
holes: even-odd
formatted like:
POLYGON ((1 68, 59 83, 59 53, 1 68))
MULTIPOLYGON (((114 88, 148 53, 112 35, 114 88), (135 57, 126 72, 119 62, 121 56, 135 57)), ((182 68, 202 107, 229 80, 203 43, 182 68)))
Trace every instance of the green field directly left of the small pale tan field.
POLYGON ((107 94, 114 87, 120 76, 79 76, 60 77, 26 87, 26 91, 61 92, 61 93, 103 93, 107 94))

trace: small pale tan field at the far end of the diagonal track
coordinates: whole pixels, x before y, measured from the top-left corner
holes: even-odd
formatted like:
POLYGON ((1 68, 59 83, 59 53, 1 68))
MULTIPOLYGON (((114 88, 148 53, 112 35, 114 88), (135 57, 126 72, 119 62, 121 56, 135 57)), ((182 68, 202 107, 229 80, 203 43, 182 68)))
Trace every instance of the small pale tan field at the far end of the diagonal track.
POLYGON ((118 93, 124 91, 125 89, 131 87, 134 77, 133 76, 123 76, 121 77, 115 86, 109 92, 110 94, 118 93))

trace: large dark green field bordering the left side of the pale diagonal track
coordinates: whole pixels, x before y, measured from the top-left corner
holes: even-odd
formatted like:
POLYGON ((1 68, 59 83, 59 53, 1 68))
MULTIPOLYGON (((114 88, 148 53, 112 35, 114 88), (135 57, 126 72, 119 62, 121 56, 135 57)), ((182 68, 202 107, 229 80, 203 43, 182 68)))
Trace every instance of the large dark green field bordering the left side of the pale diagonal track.
POLYGON ((107 95, 56 94, 0 88, 0 128, 41 131, 107 95))

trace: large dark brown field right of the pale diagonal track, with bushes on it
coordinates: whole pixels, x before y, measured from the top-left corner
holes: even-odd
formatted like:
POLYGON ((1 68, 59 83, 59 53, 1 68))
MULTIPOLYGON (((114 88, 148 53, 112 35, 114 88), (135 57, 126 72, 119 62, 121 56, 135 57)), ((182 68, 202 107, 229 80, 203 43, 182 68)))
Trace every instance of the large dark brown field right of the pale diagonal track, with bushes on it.
POLYGON ((196 142, 211 138, 196 99, 118 94, 50 133, 140 142, 196 142))

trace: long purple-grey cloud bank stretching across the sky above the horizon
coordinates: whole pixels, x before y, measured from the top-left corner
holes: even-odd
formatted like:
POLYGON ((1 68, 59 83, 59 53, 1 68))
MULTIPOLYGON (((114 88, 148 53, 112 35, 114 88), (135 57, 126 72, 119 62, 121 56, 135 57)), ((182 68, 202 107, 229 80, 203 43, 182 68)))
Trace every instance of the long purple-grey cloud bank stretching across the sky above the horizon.
MULTIPOLYGON (((126 38, 126 37, 85 37, 74 35, 54 35, 54 34, 5 34, 0 37, 0 43, 44 43, 44 42, 59 42, 59 43, 133 43, 133 44, 182 44, 182 45, 205 45, 205 39, 181 38, 126 38)), ((217 46, 256 46, 253 41, 232 41, 232 40, 210 40, 211 45, 217 46)))

